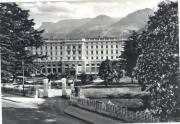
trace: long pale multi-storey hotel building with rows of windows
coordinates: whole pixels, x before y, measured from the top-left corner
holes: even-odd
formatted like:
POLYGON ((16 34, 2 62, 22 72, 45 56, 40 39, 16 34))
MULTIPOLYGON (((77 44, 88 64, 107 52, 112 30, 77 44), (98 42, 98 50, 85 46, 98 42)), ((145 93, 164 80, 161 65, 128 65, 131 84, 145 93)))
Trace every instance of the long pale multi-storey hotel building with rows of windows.
POLYGON ((32 48, 33 54, 47 55, 38 59, 42 69, 36 74, 65 73, 74 68, 76 74, 98 74, 105 59, 117 60, 123 51, 124 39, 83 38, 80 40, 45 40, 43 46, 32 48))

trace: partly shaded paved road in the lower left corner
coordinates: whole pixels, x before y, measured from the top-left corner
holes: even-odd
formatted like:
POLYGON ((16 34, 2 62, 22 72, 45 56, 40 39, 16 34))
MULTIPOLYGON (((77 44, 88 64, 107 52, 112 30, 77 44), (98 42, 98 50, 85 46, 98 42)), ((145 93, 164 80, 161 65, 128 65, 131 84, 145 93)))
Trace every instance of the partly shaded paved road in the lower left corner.
POLYGON ((66 114, 2 99, 2 124, 87 124, 66 114))

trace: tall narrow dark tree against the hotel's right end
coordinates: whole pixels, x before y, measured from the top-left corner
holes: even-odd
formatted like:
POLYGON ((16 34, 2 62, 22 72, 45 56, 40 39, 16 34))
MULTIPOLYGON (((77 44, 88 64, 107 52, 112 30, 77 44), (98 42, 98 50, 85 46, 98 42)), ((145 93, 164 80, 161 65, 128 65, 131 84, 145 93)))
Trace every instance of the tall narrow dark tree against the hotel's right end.
POLYGON ((132 34, 125 41, 124 51, 121 57, 125 59, 125 70, 127 75, 131 77, 133 83, 133 71, 137 63, 137 58, 140 50, 138 49, 138 33, 133 31, 132 34))

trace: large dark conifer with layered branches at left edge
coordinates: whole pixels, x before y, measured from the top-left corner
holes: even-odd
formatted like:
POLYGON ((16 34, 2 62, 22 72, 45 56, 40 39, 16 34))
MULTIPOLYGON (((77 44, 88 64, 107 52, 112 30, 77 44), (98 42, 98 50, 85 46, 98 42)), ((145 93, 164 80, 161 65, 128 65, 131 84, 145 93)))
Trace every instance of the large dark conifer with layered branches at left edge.
POLYGON ((43 56, 33 55, 31 48, 43 44, 43 31, 34 29, 33 19, 29 19, 28 10, 22 10, 15 3, 0 3, 0 45, 2 78, 11 75, 16 77, 25 72, 38 68, 33 61, 43 56))

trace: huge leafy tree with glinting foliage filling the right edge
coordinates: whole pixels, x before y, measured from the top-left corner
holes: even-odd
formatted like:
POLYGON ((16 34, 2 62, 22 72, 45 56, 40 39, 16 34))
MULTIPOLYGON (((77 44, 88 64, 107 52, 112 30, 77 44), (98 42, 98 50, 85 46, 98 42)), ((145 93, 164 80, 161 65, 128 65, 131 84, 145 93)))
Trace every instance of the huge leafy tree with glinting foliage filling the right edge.
POLYGON ((142 90, 150 92, 149 109, 168 121, 180 112, 178 2, 158 7, 139 38, 142 51, 136 72, 142 90))

